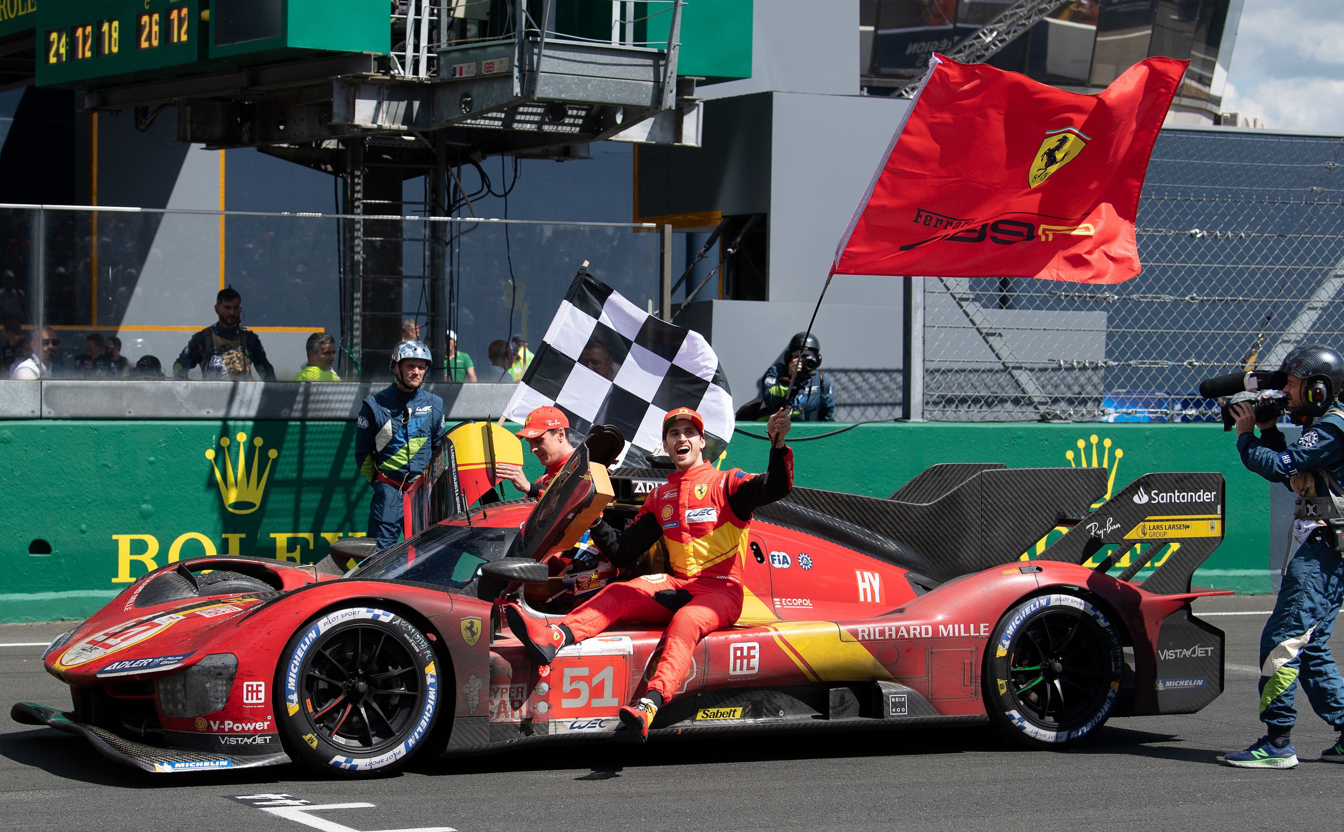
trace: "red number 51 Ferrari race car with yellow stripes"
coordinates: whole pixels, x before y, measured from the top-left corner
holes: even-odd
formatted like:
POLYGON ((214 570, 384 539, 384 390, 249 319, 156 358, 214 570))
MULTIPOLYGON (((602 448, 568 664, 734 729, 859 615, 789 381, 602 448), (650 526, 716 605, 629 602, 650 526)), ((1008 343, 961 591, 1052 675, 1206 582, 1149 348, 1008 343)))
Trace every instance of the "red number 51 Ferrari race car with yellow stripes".
MULTIPOLYGON (((622 738, 617 708, 642 694, 661 630, 538 667, 500 604, 558 616, 664 569, 655 547, 618 575, 586 530, 599 513, 624 527, 665 473, 607 476, 585 444, 540 501, 458 512, 348 571, 367 543, 333 546, 343 566, 168 565, 47 649, 70 710, 12 718, 148 772, 293 759, 360 776, 622 738)), ((1191 601, 1223 593, 1189 579, 1222 540, 1223 479, 1146 474, 1094 508, 1105 476, 953 464, 886 500, 794 488, 753 522, 742 620, 696 648, 650 737, 989 723, 1059 747, 1109 716, 1200 710, 1223 688, 1223 633, 1191 601)))

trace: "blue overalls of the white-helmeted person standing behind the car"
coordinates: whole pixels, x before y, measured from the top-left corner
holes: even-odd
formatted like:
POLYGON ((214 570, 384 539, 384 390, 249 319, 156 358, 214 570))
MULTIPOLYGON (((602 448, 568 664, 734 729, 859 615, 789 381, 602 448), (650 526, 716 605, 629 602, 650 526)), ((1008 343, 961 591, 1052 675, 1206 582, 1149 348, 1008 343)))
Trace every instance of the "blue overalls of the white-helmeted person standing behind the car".
POLYGON ((368 505, 368 536, 378 548, 402 536, 402 495, 444 441, 444 401, 396 384, 364 399, 355 429, 359 470, 374 485, 368 505))

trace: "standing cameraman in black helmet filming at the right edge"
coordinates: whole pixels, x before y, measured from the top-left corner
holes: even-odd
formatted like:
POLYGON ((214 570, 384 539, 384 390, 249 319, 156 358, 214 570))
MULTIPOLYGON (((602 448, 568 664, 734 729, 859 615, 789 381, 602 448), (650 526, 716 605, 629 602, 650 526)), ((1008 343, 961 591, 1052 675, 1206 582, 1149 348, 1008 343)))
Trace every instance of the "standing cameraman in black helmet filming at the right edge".
MULTIPOLYGON (((1255 423, 1251 402, 1231 406, 1236 419, 1236 449, 1242 464, 1271 483, 1297 492, 1293 536, 1301 547, 1289 560, 1261 634, 1259 718, 1267 734, 1245 751, 1223 757, 1239 767, 1290 769, 1297 751, 1290 733, 1298 681, 1312 710, 1336 731, 1344 731, 1344 680, 1328 640, 1344 599, 1344 540, 1327 520, 1344 508, 1344 356, 1329 347, 1298 347, 1279 372, 1292 421, 1302 437, 1289 445, 1274 421, 1255 423), (1261 435, 1255 437, 1255 427, 1261 435), (1336 497, 1336 499, 1332 499, 1336 497)), ((1321 751, 1327 762, 1344 762, 1344 735, 1321 751)))

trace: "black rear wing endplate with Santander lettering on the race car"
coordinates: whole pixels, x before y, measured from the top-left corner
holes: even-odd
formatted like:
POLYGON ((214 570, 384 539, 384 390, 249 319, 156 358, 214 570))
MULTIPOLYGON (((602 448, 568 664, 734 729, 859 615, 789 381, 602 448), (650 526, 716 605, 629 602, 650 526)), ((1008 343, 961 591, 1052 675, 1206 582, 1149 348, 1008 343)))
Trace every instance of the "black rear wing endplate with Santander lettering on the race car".
POLYGON ((1223 474, 1149 473, 1138 477, 1085 522, 1040 554, 1040 560, 1124 569, 1133 581, 1156 567, 1140 586, 1149 593, 1188 593, 1189 582, 1226 534, 1223 474))

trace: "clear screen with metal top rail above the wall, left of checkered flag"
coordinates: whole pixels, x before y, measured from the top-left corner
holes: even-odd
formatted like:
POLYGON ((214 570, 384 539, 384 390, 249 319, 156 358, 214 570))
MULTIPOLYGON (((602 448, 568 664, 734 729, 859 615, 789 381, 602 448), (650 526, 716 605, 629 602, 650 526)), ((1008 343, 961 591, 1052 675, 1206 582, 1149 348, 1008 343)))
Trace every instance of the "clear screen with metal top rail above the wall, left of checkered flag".
MULTIPOLYGON (((216 367, 204 374, 211 380, 289 380, 312 366, 308 348, 321 335, 335 340, 332 370, 341 379, 380 378, 403 329, 433 343, 426 328, 433 320, 453 331, 460 359, 444 367, 435 355, 430 380, 472 380, 465 378, 470 366, 477 382, 512 383, 503 378, 505 367, 492 364, 491 345, 521 335, 535 349, 585 259, 632 302, 656 304, 664 278, 656 230, 648 223, 4 204, 0 325, 11 332, 9 367, 0 378, 32 351, 50 352, 39 356, 44 379, 172 378, 190 340, 219 320, 215 298, 227 286, 241 293, 241 323, 255 333, 265 360, 250 355, 243 371, 224 360, 231 375, 216 367), (345 297, 353 281, 341 280, 343 241, 356 224, 364 273, 358 315, 345 297), (429 258, 437 245, 450 255, 429 258), (345 337, 353 324, 363 333, 358 355, 345 337), (153 362, 137 372, 145 358, 153 362)), ((202 337, 216 353, 228 351, 214 336, 202 337)), ((177 376, 198 379, 202 368, 177 376)))

